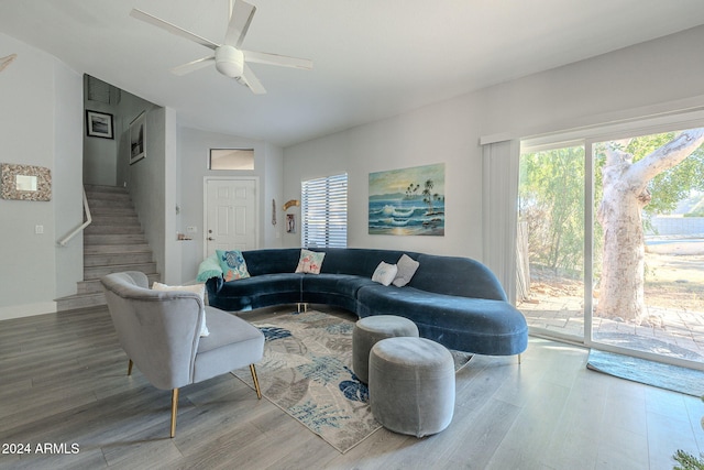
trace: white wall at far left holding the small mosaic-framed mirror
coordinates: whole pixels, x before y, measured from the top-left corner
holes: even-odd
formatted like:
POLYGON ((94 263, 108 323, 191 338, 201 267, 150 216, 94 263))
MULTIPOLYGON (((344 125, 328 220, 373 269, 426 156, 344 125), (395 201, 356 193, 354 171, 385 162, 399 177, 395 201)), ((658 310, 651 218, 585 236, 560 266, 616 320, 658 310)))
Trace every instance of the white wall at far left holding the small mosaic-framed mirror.
POLYGON ((12 53, 18 58, 0 73, 0 160, 48 167, 53 190, 51 201, 0 199, 0 319, 54 311, 54 299, 75 293, 82 275, 82 239, 56 245, 82 221, 81 77, 0 33, 0 55, 12 53), (40 225, 44 233, 35 234, 40 225))

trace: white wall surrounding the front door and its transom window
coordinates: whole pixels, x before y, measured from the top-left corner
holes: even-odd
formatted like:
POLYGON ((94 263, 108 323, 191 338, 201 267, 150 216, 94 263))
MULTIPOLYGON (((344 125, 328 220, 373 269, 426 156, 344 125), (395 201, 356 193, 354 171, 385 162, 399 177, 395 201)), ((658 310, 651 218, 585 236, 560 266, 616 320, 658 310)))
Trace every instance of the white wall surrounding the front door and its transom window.
POLYGON ((282 245, 284 225, 280 222, 283 211, 282 178, 283 151, 271 143, 234 135, 220 134, 191 128, 180 128, 178 133, 179 188, 177 216, 178 231, 186 233, 187 227, 196 227, 196 233, 187 233, 194 240, 180 242, 182 280, 189 282, 196 278, 198 264, 204 259, 204 178, 224 176, 258 177, 258 248, 277 248, 282 245), (208 156, 210 149, 254 149, 253 171, 210 171, 208 156), (272 199, 276 200, 278 223, 272 225, 272 199))

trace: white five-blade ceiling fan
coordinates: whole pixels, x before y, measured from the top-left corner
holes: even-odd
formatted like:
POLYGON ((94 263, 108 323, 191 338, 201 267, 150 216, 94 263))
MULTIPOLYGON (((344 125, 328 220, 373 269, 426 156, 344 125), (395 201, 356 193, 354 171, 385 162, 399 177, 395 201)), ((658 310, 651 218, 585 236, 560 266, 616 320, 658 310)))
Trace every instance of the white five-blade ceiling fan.
POLYGON ((234 78, 241 85, 250 88, 255 95, 263 95, 266 92, 266 89, 264 89, 248 63, 311 69, 312 62, 307 58, 288 57, 285 55, 240 48, 255 11, 256 7, 253 4, 242 0, 230 0, 230 22, 222 44, 201 37, 150 13, 145 13, 142 10, 133 9, 130 15, 215 51, 212 55, 172 68, 174 74, 185 75, 215 64, 218 72, 222 75, 234 78))

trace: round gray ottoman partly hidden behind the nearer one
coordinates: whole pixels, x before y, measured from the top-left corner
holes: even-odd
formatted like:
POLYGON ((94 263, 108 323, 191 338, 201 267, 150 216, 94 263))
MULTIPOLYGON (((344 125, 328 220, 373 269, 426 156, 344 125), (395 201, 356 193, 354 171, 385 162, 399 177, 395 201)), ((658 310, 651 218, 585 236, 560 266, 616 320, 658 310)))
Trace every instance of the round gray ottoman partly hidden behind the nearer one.
POLYGON ((418 336, 418 327, 408 318, 373 315, 354 324, 352 331, 352 370, 361 382, 369 382, 370 351, 382 339, 418 336))

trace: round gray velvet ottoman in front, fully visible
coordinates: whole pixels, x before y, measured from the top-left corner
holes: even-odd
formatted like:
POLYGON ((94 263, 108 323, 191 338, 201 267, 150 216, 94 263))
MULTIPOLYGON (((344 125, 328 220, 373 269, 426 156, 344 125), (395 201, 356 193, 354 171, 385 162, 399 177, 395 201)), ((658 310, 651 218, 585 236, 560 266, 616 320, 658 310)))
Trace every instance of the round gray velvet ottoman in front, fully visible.
POLYGON ((370 404, 377 422, 424 437, 450 425, 454 413, 454 361, 425 338, 388 338, 370 352, 370 404))

